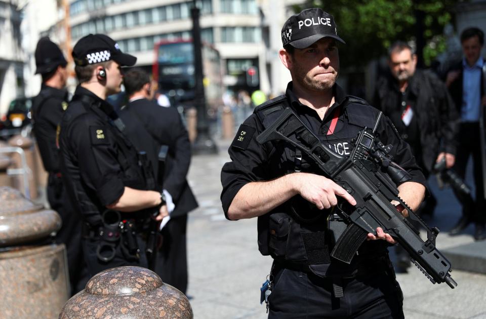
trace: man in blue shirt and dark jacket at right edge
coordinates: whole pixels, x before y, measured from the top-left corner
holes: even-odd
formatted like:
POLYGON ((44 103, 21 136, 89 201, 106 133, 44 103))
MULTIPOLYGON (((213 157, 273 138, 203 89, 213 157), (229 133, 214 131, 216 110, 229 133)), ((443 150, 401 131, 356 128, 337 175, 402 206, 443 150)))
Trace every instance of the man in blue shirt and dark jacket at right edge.
POLYGON ((461 114, 459 129, 459 147, 457 150, 454 170, 464 178, 466 166, 472 155, 474 170, 474 185, 476 189, 475 202, 471 198, 458 196, 462 204, 462 216, 451 233, 459 233, 474 222, 476 225, 474 238, 486 238, 484 224, 486 222, 486 201, 484 199, 484 182, 481 160, 481 147, 479 134, 479 116, 481 107, 486 105, 486 92, 484 74, 486 74, 486 61, 481 57, 481 48, 484 44, 484 33, 478 28, 467 28, 461 33, 461 46, 464 53, 462 61, 455 64, 447 73, 446 85, 461 114))

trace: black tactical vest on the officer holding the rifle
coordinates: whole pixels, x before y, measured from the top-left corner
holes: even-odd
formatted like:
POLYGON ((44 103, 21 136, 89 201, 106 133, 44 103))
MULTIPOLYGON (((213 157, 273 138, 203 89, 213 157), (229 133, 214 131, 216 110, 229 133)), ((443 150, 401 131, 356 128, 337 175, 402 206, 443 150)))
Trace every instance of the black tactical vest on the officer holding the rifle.
MULTIPOLYGON (((363 127, 373 127, 376 120, 369 107, 362 107, 363 105, 368 103, 360 98, 347 96, 335 115, 337 117, 341 114, 339 117, 345 118, 344 124, 341 123, 342 129, 331 135, 320 133, 316 136, 333 151, 343 156, 348 155, 352 150, 351 139, 355 138, 363 127)), ((290 104, 287 97, 281 95, 257 107, 254 113, 266 129, 286 107, 290 107, 290 104)), ((306 155, 292 145, 275 142, 272 143, 272 147, 269 163, 272 164, 271 167, 277 167, 275 172, 272 172, 274 178, 300 171, 316 173, 311 161, 307 161, 306 155)), ((258 217, 258 247, 261 254, 271 255, 276 261, 287 264, 323 265, 322 272, 329 274, 329 269, 332 268, 330 264, 336 264, 334 261, 331 263, 330 258, 332 241, 327 231, 327 218, 330 213, 331 210, 317 210, 311 203, 297 195, 270 213, 258 217)), ((376 249, 375 244, 372 245, 372 250, 376 249)), ((378 246, 383 245, 380 243, 378 246)), ((363 250, 366 249, 367 247, 363 247, 363 250)), ((352 271, 358 259, 353 258, 349 267, 340 263, 339 269, 332 270, 333 274, 339 275, 339 273, 352 271)))

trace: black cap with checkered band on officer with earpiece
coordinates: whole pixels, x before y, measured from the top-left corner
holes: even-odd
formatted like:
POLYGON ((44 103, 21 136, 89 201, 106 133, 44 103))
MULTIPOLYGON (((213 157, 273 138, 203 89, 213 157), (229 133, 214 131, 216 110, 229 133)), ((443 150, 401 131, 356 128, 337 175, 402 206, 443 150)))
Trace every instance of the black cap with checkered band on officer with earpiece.
POLYGON ((113 39, 105 34, 88 34, 79 39, 72 49, 74 63, 79 66, 113 60, 122 66, 133 66, 137 58, 121 52, 113 39))

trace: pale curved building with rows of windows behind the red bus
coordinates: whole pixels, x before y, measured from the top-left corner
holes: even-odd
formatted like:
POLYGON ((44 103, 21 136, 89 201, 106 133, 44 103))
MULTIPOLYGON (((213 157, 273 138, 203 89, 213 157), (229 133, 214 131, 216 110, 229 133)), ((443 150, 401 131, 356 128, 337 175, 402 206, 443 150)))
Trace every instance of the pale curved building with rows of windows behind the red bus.
MULTIPOLYGON (((295 3, 299 1, 196 1, 201 38, 220 53, 226 88, 260 89, 267 94, 285 90, 290 76, 277 52, 281 26, 295 3), (258 71, 259 81, 249 84, 245 73, 251 67, 258 71)), ((192 5, 174 0, 71 0, 72 43, 89 33, 108 34, 122 51, 138 58, 138 66, 148 69, 154 62, 155 43, 191 38, 192 5)))

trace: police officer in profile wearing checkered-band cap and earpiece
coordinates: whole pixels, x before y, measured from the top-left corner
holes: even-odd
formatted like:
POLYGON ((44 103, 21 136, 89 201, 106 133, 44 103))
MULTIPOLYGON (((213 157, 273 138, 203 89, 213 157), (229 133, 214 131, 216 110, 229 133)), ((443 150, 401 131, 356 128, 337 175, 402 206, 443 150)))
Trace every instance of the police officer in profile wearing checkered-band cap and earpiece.
POLYGON ((147 267, 150 218, 168 215, 163 195, 147 189, 146 158, 125 137, 124 124, 105 101, 120 92, 121 66, 134 56, 110 37, 89 34, 73 48, 79 85, 60 127, 62 174, 83 217, 83 250, 90 275, 117 266, 147 267), (156 215, 156 216, 155 216, 156 215))

